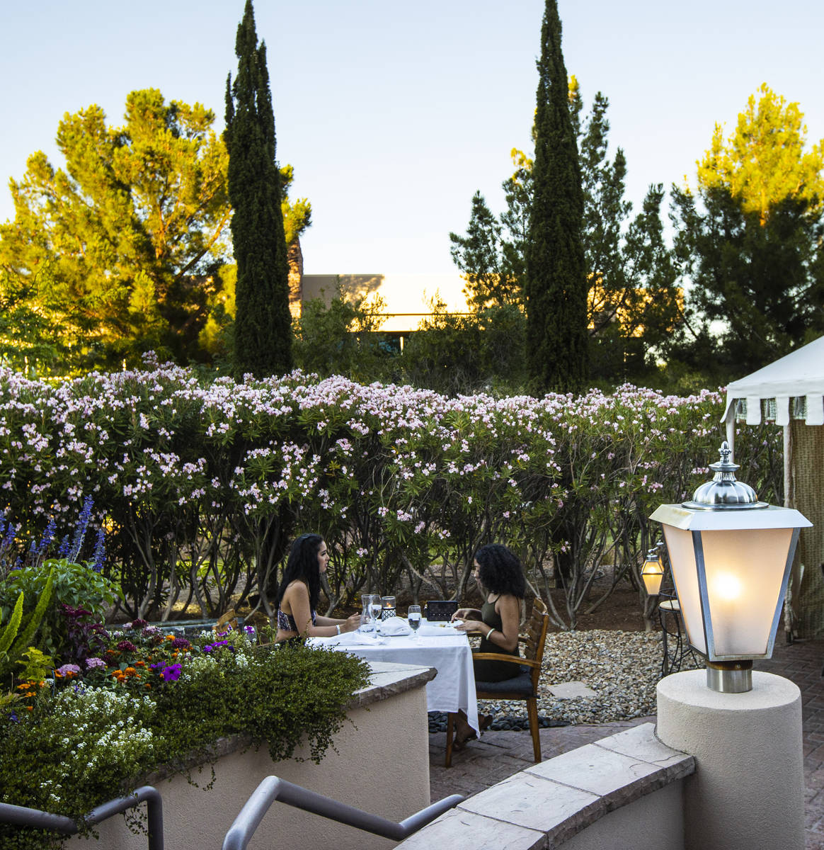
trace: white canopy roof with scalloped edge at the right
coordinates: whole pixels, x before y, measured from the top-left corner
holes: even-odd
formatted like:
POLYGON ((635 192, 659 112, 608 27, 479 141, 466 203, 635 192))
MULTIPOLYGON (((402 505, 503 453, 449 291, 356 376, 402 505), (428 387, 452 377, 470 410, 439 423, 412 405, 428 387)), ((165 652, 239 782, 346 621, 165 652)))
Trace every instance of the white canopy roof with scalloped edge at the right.
POLYGON ((790 399, 807 399, 808 425, 824 425, 824 337, 796 348, 791 354, 731 382, 721 421, 729 432, 735 418, 736 399, 747 399, 747 422, 761 422, 761 400, 776 399, 776 425, 788 425, 790 399))

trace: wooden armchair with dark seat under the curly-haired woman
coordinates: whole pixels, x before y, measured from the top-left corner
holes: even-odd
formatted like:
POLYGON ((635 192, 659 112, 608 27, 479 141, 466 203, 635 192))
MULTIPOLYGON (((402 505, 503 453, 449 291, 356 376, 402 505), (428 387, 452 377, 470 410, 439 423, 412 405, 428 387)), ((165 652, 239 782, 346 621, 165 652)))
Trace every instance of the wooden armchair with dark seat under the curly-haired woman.
MULTIPOLYGON (((518 638, 523 644, 523 656, 504 655, 498 652, 476 652, 473 660, 505 661, 516 664, 521 672, 516 677, 505 679, 503 682, 477 682, 475 693, 479 700, 526 700, 529 717, 529 734, 532 735, 533 755, 535 761, 541 760, 541 740, 538 726, 538 683, 541 674, 541 660, 544 658, 546 632, 550 627, 550 615, 540 599, 535 599, 532 615, 529 618, 526 635, 518 638)), ((449 714, 446 730, 446 766, 452 763, 452 734, 454 715, 449 714)))

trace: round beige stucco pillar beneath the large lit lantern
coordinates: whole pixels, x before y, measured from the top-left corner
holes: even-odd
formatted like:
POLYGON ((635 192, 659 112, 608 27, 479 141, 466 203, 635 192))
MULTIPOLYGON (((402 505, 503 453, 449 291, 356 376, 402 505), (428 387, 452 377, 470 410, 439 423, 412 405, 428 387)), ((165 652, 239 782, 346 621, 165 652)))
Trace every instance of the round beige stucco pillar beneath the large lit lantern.
POLYGON ((690 753, 684 785, 685 850, 804 850, 801 692, 753 672, 746 694, 707 687, 706 673, 658 683, 658 738, 690 753))

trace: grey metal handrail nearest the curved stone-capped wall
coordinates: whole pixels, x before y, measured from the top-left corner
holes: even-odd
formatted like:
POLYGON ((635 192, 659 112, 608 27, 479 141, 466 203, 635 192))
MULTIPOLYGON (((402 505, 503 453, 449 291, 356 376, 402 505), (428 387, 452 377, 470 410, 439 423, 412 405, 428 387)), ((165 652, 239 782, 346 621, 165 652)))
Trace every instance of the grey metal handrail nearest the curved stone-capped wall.
POLYGON ((223 850, 246 850, 246 845, 255 834, 263 815, 268 812, 275 800, 285 802, 288 806, 302 808, 305 812, 319 814, 322 818, 336 820, 340 824, 354 826, 358 830, 392 838, 399 842, 431 823, 450 808, 457 806, 463 799, 464 797, 460 794, 452 794, 444 797, 443 800, 433 802, 431 806, 420 809, 420 812, 415 812, 409 815, 409 818, 396 824, 392 820, 332 800, 330 797, 318 794, 316 791, 309 791, 308 788, 294 785, 277 776, 267 776, 255 791, 252 791, 246 805, 240 809, 234 823, 229 827, 229 832, 223 839, 223 850))

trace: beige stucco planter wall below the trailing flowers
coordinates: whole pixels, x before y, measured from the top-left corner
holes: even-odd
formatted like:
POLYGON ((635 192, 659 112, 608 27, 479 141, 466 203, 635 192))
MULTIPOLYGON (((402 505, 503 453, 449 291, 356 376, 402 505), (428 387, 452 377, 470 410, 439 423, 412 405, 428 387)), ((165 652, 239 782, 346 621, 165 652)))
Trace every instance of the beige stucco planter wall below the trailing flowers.
MULTIPOLYGON (((371 684, 355 695, 335 750, 324 760, 272 762, 265 747, 240 751, 242 740, 221 743, 223 754, 215 764, 210 791, 189 785, 185 776, 151 782, 163 797, 166 850, 192 847, 219 848, 234 818, 267 776, 276 775, 296 785, 349 803, 395 821, 429 805, 429 741, 426 720, 428 668, 374 664, 371 684)), ((296 753, 308 758, 308 748, 296 753)), ((208 764, 198 785, 211 779, 208 764)), ((151 781, 151 778, 150 778, 151 781)), ((99 829, 100 841, 72 838, 69 850, 144 850, 145 836, 134 836, 121 817, 99 829)), ((336 850, 384 850, 389 841, 317 815, 275 802, 258 827, 252 848, 329 847, 336 850)))

